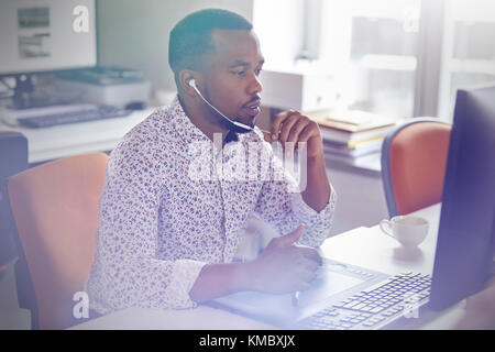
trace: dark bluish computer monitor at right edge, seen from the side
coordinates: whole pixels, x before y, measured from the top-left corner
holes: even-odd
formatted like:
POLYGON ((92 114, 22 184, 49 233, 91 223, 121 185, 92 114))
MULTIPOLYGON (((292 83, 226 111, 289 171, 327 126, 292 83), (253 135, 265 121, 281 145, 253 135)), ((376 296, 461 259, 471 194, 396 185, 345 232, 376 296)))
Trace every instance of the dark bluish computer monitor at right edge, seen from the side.
MULTIPOLYGON (((481 290, 495 243, 495 84, 458 91, 429 307, 481 290)), ((494 297, 495 298, 495 297, 494 297)))

